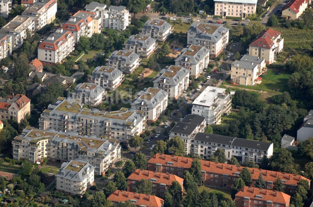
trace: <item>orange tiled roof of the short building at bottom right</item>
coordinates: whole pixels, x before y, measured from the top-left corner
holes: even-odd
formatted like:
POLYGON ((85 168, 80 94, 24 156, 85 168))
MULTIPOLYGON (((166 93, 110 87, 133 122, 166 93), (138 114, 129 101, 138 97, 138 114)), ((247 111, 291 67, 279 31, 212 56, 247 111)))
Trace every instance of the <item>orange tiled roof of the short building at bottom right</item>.
POLYGON ((236 196, 240 197, 249 197, 255 199, 255 200, 271 200, 274 203, 280 203, 280 204, 287 204, 288 201, 290 201, 290 195, 287 195, 280 191, 274 191, 274 190, 266 190, 262 188, 254 188, 254 187, 248 187, 244 186, 242 187, 236 194, 236 196), (261 195, 262 198, 256 197, 256 195, 261 195))

